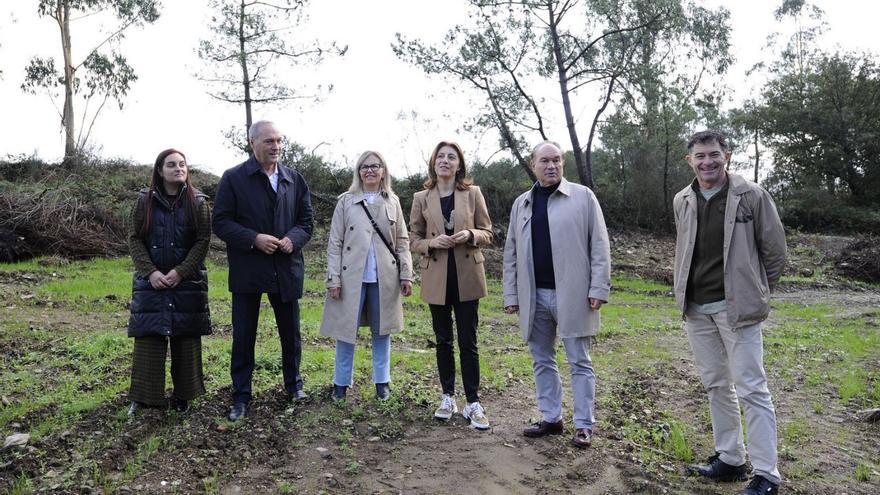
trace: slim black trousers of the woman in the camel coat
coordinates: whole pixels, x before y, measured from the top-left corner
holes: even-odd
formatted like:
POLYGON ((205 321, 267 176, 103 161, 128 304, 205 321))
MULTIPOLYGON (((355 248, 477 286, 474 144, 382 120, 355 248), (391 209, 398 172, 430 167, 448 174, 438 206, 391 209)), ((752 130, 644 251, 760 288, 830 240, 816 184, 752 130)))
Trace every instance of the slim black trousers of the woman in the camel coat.
POLYGON ((452 304, 430 304, 434 336, 437 338, 437 371, 443 393, 455 393, 455 350, 453 349, 452 313, 455 313, 458 333, 458 353, 461 360, 461 381, 468 402, 479 402, 480 355, 477 351, 477 310, 480 300, 452 304))

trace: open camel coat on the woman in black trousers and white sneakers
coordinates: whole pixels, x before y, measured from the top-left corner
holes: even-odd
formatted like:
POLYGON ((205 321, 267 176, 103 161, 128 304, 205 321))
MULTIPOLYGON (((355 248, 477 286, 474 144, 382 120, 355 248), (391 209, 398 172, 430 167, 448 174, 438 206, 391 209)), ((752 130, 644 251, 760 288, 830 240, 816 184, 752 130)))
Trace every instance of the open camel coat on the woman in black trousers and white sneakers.
MULTIPOLYGON (((492 221, 479 187, 470 186, 463 191, 455 189, 453 194, 453 230, 457 233, 467 229, 473 234, 470 241, 452 248, 458 275, 458 295, 461 301, 473 301, 487 294, 480 247, 492 244, 492 221)), ((440 193, 436 187, 419 191, 413 196, 409 225, 412 239, 410 249, 421 255, 422 300, 428 304, 446 304, 446 257, 450 250, 428 247, 431 239, 446 233, 440 193)))

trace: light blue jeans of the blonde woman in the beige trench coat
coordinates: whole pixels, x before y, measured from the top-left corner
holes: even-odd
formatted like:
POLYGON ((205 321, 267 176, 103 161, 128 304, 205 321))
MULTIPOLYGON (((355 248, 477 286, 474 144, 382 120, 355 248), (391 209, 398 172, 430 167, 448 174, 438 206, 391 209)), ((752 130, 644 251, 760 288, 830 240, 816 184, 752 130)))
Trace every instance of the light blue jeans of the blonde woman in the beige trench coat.
MULTIPOLYGON (((388 383, 391 381, 391 335, 379 335, 379 306, 379 284, 363 284, 357 321, 360 321, 364 308, 369 308, 370 331, 373 336, 373 383, 388 383)), ((350 387, 352 383, 354 383, 354 344, 337 340, 333 384, 350 387)))

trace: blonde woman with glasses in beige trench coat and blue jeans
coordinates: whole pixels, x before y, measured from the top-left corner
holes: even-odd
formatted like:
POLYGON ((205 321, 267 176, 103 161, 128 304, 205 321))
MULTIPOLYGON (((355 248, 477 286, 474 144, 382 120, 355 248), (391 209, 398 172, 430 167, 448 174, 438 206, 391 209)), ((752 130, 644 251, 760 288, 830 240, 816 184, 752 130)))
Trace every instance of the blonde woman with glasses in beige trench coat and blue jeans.
POLYGON ((400 201, 385 159, 366 151, 355 163, 351 187, 336 202, 327 241, 321 335, 336 339, 334 400, 344 399, 354 381, 359 326, 372 333, 376 397, 390 396, 391 333, 403 328, 401 296, 410 294, 412 258, 400 201))

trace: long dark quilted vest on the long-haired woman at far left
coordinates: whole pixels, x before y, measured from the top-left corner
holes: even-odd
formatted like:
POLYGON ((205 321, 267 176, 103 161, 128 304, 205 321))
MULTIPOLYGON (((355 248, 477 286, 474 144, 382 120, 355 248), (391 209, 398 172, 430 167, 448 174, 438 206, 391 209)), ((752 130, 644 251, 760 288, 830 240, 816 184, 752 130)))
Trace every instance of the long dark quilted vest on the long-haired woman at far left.
MULTIPOLYGON (((202 203, 205 196, 197 193, 196 199, 202 203)), ((151 200, 150 231, 144 241, 156 269, 167 273, 186 259, 196 242, 196 229, 187 227, 186 208, 180 201, 171 205, 161 194, 155 194, 151 200)), ((138 201, 147 201, 146 193, 141 192, 138 201)), ((210 333, 208 275, 204 259, 199 261, 195 277, 182 280, 172 289, 156 290, 148 278, 135 271, 129 337, 196 337, 210 333)))

